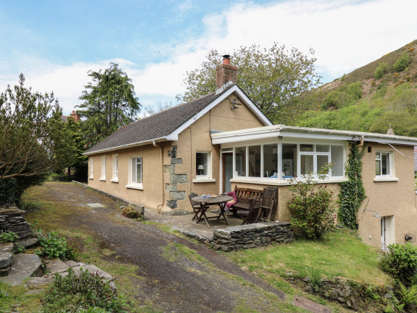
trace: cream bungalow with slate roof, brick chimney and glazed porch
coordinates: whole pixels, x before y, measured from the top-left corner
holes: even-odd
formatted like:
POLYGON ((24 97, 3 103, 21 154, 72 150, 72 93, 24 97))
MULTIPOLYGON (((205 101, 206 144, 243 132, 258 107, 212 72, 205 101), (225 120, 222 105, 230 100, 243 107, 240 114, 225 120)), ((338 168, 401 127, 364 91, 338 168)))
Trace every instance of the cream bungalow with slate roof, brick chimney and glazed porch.
POLYGON ((332 162, 329 179, 319 183, 338 192, 338 182, 347 180, 350 145, 365 143, 362 174, 368 198, 358 214, 363 241, 386 247, 417 233, 417 138, 272 125, 236 85, 236 74, 225 56, 214 93, 126 125, 91 147, 85 152, 88 185, 156 211, 191 211, 190 193, 275 186, 275 218, 289 220, 289 179, 332 162))

